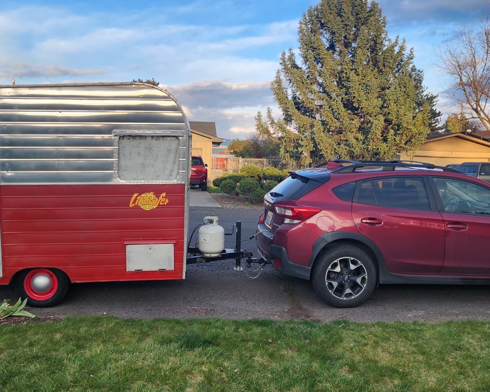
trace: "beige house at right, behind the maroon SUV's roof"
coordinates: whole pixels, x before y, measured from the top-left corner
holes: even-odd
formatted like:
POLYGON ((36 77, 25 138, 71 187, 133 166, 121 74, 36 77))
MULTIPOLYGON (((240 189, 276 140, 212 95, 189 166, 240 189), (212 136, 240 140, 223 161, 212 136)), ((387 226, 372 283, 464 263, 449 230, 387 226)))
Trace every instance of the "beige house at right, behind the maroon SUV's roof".
POLYGON ((482 136, 471 133, 429 135, 418 150, 401 153, 400 159, 440 166, 450 163, 490 162, 490 142, 482 136))

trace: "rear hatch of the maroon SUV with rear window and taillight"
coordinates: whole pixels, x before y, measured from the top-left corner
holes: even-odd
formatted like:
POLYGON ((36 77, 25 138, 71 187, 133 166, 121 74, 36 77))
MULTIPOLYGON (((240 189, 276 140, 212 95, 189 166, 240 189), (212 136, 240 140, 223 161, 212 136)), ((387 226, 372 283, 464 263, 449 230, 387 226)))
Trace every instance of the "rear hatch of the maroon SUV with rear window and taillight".
POLYGON ((284 223, 299 223, 320 212, 318 208, 303 206, 298 201, 330 179, 325 169, 312 168, 289 173, 288 178, 264 196, 264 225, 272 235, 284 223))

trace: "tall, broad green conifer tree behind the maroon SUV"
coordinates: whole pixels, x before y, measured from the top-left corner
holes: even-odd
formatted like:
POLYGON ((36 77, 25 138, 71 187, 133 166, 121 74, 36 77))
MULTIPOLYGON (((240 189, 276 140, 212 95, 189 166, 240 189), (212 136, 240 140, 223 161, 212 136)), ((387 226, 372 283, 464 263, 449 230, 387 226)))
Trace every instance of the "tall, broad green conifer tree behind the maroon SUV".
POLYGON ((424 92, 413 50, 388 37, 375 1, 322 0, 298 35, 301 61, 283 52, 271 83, 283 158, 391 159, 423 143, 436 97, 424 92))

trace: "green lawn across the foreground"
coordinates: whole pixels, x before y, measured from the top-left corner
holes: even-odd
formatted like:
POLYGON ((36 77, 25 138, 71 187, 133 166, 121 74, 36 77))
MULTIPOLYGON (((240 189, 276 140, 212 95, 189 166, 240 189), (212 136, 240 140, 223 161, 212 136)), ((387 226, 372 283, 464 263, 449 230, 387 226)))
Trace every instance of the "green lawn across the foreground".
POLYGON ((490 391, 490 324, 67 318, 0 325, 6 391, 490 391))

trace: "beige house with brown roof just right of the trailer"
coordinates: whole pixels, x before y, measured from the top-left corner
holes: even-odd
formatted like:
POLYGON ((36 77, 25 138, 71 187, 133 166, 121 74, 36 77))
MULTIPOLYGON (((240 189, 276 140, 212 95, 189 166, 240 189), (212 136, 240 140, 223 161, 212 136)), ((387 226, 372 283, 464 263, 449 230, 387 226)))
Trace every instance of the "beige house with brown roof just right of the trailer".
POLYGON ((192 155, 201 155, 208 165, 208 185, 212 176, 212 147, 224 142, 216 136, 216 124, 211 121, 189 121, 192 133, 192 155))

